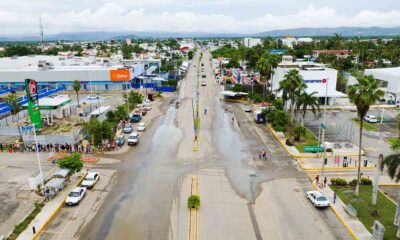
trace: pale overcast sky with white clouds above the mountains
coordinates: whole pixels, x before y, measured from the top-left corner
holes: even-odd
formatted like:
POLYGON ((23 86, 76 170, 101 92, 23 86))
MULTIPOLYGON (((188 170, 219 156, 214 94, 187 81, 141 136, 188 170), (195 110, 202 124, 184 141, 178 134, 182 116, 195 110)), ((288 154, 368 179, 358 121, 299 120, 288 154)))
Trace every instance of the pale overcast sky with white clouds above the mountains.
POLYGON ((0 35, 397 27, 400 0, 0 0, 0 35))

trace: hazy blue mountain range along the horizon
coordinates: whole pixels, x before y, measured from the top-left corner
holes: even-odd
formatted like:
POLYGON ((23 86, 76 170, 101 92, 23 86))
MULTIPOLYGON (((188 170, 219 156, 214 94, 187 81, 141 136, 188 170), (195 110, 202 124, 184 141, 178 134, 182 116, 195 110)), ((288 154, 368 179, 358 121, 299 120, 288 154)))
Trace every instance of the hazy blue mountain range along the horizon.
MULTIPOLYGON (((126 38, 239 38, 239 37, 324 37, 334 33, 344 37, 397 37, 400 36, 400 27, 335 27, 335 28, 293 28, 272 30, 253 34, 242 33, 207 33, 207 32, 66 32, 45 35, 46 41, 95 41, 95 40, 123 40, 126 38)), ((33 35, 0 35, 1 42, 8 41, 39 41, 40 36, 33 35)))

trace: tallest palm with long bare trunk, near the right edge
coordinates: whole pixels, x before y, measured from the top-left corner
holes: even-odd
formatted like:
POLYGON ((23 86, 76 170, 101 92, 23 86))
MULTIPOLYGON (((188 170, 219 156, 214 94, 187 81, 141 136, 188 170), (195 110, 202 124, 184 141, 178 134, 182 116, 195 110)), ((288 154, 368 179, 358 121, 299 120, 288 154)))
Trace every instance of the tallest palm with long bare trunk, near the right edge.
POLYGON ((359 136, 359 150, 358 150, 358 172, 357 172, 357 185, 355 195, 358 196, 360 192, 360 172, 361 172, 361 148, 362 148, 362 130, 364 125, 364 117, 367 115, 369 107, 378 101, 384 92, 379 89, 379 81, 373 76, 363 76, 358 78, 358 83, 349 87, 348 96, 350 102, 356 105, 357 115, 360 121, 360 136, 359 136))

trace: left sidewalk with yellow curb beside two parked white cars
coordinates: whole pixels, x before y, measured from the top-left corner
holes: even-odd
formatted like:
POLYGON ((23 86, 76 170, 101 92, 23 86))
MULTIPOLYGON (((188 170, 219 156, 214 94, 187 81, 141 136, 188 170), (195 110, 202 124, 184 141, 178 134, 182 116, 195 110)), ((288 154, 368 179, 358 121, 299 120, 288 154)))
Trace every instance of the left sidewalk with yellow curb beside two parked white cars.
POLYGON ((29 226, 18 236, 17 239, 36 239, 40 232, 46 228, 51 220, 57 215, 57 213, 64 206, 64 201, 67 198, 69 192, 75 188, 83 179, 82 174, 75 174, 71 177, 71 182, 67 187, 59 192, 54 199, 46 203, 42 208, 42 211, 35 217, 35 219, 29 224, 29 226), (33 234, 32 228, 35 227, 36 234, 33 234))

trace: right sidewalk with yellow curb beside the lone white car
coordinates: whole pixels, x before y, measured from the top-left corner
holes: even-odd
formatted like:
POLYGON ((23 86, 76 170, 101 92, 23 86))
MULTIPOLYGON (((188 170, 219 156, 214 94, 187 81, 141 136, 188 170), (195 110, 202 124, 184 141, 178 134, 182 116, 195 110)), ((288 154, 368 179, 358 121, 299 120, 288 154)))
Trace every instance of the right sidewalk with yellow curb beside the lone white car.
MULTIPOLYGON (((313 186, 316 185, 313 183, 313 186)), ((317 187, 316 187, 317 188, 317 187)), ((317 188, 318 189, 318 188, 317 188)), ((351 217, 345 211, 345 204, 340 200, 339 197, 336 198, 336 203, 333 203, 333 190, 330 187, 325 187, 319 189, 320 192, 323 192, 327 198, 329 199, 332 211, 336 214, 339 221, 343 223, 345 228, 350 232, 354 239, 367 240, 371 239, 372 234, 365 228, 365 226, 355 217, 351 217)))

